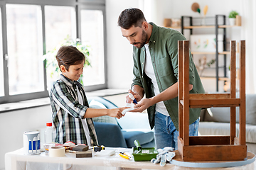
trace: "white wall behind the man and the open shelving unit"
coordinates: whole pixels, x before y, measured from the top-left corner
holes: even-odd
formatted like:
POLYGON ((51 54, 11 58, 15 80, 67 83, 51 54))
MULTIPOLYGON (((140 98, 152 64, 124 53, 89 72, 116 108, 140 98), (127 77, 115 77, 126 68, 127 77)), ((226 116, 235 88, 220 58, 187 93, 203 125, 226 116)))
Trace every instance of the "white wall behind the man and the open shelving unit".
MULTIPOLYGON (((159 26, 163 26, 164 18, 181 18, 181 16, 200 16, 191 10, 191 5, 195 1, 191 0, 132 0, 117 1, 106 0, 107 7, 107 86, 109 88, 129 88, 132 83, 132 45, 122 37, 117 26, 117 18, 124 8, 137 7, 144 11, 146 20, 153 21, 159 26), (146 6, 146 8, 144 8, 146 6), (118 71, 117 71, 118 70, 118 71)), ((240 0, 215 0, 215 1, 196 1, 200 5, 201 11, 208 5, 206 16, 215 16, 216 14, 228 16, 232 10, 241 13, 240 0)), ((240 28, 228 28, 228 40, 240 40, 240 28)), ((212 30, 194 30, 193 33, 210 33, 212 30)), ((185 32, 186 34, 186 32, 185 32)), ((189 36, 186 35, 189 39, 189 36)), ((214 56, 213 56, 214 58, 214 56)), ((220 59, 222 61, 222 59, 220 59)), ((206 91, 215 91, 215 79, 202 80, 206 91)), ((220 84, 223 86, 223 84, 220 84)))

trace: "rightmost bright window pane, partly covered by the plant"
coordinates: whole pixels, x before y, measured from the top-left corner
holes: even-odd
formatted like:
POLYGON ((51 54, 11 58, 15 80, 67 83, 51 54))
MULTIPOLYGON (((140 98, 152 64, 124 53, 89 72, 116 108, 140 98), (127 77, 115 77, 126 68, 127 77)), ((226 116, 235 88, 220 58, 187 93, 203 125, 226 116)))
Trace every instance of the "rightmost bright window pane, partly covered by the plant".
POLYGON ((105 84, 103 13, 100 10, 81 10, 81 40, 90 47, 92 67, 85 67, 85 86, 105 84))

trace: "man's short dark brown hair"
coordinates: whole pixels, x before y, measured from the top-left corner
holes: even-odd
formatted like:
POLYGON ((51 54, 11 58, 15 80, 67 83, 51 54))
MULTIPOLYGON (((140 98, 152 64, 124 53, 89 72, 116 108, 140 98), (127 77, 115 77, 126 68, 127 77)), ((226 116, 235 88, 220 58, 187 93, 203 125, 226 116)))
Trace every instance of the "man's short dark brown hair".
POLYGON ((146 21, 143 12, 138 8, 127 8, 122 11, 118 17, 118 26, 128 30, 132 26, 142 27, 142 23, 146 21))

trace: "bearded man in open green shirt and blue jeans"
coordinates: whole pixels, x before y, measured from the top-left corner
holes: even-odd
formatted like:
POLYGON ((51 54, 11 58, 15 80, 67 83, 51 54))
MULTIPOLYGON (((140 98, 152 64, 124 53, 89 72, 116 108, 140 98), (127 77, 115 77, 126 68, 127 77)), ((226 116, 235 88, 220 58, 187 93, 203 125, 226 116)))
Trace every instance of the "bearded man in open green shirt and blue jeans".
MULTIPOLYGON (((134 79, 130 93, 139 103, 134 111, 147 108, 149 124, 154 128, 156 147, 178 149, 178 40, 181 33, 147 23, 138 8, 127 8, 119 15, 122 35, 134 45, 134 79), (146 98, 143 98, 146 94, 146 98), (142 99, 143 98, 143 99, 142 99)), ((190 55, 189 90, 205 93, 190 55)), ((127 96, 127 103, 132 100, 127 96)), ((198 135, 200 108, 190 110, 189 135, 198 135)))

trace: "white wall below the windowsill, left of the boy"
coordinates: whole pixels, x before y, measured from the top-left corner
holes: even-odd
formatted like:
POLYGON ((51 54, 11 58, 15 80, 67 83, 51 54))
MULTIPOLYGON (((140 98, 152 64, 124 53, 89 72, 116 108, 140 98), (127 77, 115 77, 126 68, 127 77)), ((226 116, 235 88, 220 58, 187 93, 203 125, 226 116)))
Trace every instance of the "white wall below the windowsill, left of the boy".
POLYGON ((40 131, 49 121, 51 121, 50 105, 0 113, 0 169, 4 169, 6 152, 23 147, 23 132, 40 131))

